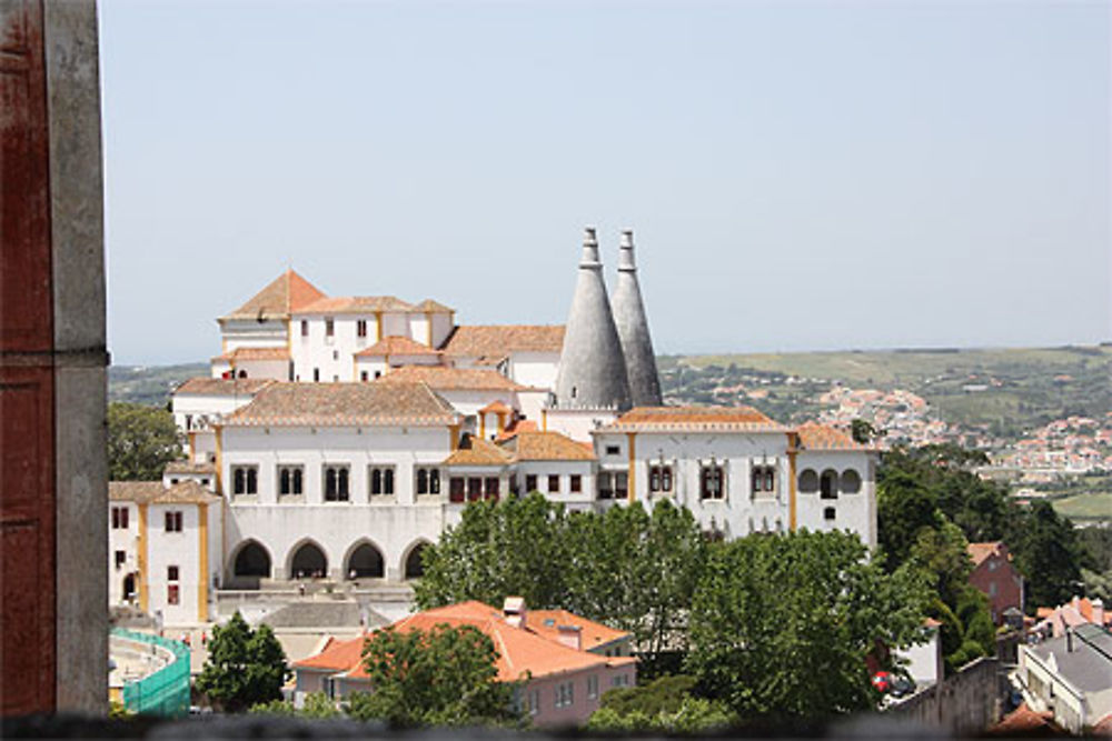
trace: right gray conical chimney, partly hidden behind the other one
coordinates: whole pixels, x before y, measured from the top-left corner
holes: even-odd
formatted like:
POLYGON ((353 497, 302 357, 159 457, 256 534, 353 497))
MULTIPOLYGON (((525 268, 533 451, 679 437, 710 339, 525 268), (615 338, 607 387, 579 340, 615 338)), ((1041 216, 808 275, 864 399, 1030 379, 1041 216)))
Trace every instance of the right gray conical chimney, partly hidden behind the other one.
POLYGON ((653 337, 648 333, 645 304, 641 300, 637 266, 633 259, 633 231, 622 232, 618 249, 618 282, 610 299, 614 323, 622 340, 626 372, 629 377, 629 395, 634 407, 661 407, 661 378, 656 373, 653 337))

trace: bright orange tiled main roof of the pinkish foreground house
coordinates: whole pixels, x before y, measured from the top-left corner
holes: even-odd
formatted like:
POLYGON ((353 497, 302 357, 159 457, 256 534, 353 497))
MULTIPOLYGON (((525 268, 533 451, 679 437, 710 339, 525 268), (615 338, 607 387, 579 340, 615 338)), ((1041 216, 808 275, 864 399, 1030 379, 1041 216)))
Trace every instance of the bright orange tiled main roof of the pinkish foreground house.
MULTIPOLYGON (((545 638, 528 624, 515 628, 506 622, 500 610, 474 600, 418 612, 403 618, 388 629, 429 631, 437 625, 473 625, 488 635, 498 652, 495 668, 498 670, 499 682, 513 682, 526 675, 537 678, 590 667, 616 667, 636 662, 633 657, 608 658, 577 651, 545 638)), ((367 679, 361 662, 364 641, 365 637, 350 641, 330 641, 324 651, 294 665, 344 671, 347 677, 367 679)))

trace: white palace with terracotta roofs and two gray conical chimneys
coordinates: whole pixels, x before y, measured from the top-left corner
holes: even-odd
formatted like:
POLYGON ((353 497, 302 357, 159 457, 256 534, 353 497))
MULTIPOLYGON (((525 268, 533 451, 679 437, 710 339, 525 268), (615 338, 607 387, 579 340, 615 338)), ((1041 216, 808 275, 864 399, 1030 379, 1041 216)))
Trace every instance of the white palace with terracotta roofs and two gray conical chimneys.
POLYGON ((188 459, 110 492, 110 599, 202 623, 221 590, 420 575, 468 502, 688 508, 716 537, 876 542, 876 453, 748 407, 665 407, 632 232, 613 293, 588 229, 565 327, 457 324, 434 300, 328 297, 292 270, 218 320, 173 393, 188 459))

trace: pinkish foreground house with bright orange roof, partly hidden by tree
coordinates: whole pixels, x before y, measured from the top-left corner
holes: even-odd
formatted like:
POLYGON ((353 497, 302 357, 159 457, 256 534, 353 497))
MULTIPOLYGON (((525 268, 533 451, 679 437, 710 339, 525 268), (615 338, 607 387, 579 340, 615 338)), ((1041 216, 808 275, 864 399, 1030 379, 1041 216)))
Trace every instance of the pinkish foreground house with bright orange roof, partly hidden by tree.
MULTIPOLYGON (((637 683, 631 634, 566 610, 532 611, 520 598, 508 598, 502 610, 469 601, 418 612, 391 628, 407 632, 437 625, 471 625, 489 637, 498 650, 498 681, 522 682, 516 701, 540 728, 579 725, 598 709, 604 692, 637 683)), ((316 655, 295 662, 295 703, 311 692, 341 700, 371 691, 363 667, 366 640, 329 640, 316 655)))

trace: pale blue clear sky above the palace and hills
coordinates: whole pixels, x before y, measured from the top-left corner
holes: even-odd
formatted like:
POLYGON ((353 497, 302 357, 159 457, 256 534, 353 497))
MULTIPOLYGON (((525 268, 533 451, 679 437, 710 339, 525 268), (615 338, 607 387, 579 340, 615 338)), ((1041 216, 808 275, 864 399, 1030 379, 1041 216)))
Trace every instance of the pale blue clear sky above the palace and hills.
POLYGON ((1106 2, 101 0, 109 348, 287 268, 658 353, 1112 339, 1106 2))

